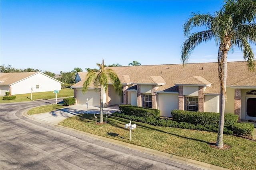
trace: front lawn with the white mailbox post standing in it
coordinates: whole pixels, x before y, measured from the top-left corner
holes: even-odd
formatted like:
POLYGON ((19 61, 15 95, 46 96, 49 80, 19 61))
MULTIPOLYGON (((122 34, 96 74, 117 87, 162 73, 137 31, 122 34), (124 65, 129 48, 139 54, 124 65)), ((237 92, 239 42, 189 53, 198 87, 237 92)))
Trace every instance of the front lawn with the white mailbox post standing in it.
POLYGON ((59 125, 74 128, 91 134, 112 138, 159 150, 169 154, 206 162, 234 170, 256 169, 256 141, 236 136, 224 135, 224 144, 231 148, 218 150, 209 143, 216 141, 217 133, 187 130, 170 127, 156 127, 145 123, 136 123, 137 128, 124 128, 128 120, 108 117, 108 124, 96 125, 94 115, 84 114, 65 119, 59 125))

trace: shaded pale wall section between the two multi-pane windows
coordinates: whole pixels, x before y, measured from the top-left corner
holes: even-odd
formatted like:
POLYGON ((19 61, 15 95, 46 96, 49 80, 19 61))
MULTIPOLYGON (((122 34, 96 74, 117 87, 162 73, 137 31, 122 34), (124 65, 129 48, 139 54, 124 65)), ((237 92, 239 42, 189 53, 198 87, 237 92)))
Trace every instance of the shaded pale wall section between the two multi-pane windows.
POLYGON ((171 111, 179 109, 179 98, 176 93, 158 93, 160 116, 172 117, 171 111))

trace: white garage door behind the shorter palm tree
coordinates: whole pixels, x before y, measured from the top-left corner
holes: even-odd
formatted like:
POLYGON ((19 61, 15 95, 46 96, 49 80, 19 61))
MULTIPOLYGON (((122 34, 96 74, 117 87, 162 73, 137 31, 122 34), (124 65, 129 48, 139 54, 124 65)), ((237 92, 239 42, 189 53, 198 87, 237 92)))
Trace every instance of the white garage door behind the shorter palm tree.
POLYGON ((100 91, 88 90, 85 95, 83 95, 82 90, 77 90, 77 103, 84 105, 88 99, 89 106, 100 107, 100 91))

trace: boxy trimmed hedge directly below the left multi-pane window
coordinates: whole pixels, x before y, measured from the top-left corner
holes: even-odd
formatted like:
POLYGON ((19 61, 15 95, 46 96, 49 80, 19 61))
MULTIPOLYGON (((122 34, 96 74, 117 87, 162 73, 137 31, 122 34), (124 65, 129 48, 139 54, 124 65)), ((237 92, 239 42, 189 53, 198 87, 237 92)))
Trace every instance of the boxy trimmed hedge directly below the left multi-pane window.
POLYGON ((119 105, 119 109, 121 113, 125 115, 134 115, 137 117, 160 117, 160 110, 158 109, 151 109, 151 108, 144 108, 132 105, 119 105))

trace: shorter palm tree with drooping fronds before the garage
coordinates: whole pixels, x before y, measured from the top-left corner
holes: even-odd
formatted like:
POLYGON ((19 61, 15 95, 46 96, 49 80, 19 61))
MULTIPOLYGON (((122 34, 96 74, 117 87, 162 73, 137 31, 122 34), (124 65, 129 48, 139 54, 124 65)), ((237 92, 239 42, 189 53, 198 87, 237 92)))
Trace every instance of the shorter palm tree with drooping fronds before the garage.
POLYGON ((116 73, 112 69, 105 68, 104 59, 102 59, 101 64, 96 63, 96 65, 100 68, 98 70, 89 69, 83 84, 82 93, 85 94, 87 92, 92 82, 95 89, 98 89, 100 85, 100 123, 103 123, 103 95, 108 89, 108 80, 113 83, 114 89, 119 96, 122 95, 122 85, 116 73))

